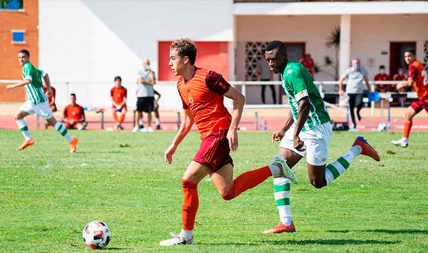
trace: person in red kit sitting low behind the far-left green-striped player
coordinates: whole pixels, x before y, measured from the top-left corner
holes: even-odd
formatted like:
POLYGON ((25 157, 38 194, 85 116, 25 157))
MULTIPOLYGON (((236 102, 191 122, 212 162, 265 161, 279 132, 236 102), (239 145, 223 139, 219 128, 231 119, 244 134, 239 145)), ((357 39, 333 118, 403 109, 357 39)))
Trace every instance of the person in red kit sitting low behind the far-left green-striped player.
POLYGON ((76 104, 76 94, 70 94, 70 101, 71 103, 64 109, 62 122, 67 129, 84 130, 87 126, 85 111, 76 104))

